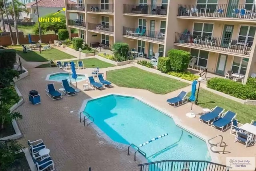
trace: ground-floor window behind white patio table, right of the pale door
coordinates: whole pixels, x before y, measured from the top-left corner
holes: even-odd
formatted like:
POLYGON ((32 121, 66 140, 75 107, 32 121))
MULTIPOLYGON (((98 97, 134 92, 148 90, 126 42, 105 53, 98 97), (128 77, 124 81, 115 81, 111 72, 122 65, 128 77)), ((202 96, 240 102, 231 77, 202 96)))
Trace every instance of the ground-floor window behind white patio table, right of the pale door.
POLYGON ((248 61, 248 58, 234 57, 231 70, 233 71, 233 73, 245 75, 248 61))

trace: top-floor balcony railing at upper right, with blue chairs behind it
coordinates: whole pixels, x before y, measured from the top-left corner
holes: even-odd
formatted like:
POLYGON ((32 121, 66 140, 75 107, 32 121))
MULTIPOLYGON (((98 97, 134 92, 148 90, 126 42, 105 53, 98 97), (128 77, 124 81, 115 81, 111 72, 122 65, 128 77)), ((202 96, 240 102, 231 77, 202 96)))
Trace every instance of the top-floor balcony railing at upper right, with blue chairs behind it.
POLYGON ((255 19, 252 4, 194 4, 178 5, 178 16, 255 19))

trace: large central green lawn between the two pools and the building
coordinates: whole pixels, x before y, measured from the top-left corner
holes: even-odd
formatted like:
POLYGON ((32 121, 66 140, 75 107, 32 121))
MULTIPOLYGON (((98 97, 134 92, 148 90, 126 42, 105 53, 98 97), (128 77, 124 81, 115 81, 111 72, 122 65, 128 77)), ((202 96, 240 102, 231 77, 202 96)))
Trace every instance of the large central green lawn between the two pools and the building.
POLYGON ((136 67, 108 71, 107 79, 118 86, 146 89, 156 94, 166 94, 189 85, 136 67))

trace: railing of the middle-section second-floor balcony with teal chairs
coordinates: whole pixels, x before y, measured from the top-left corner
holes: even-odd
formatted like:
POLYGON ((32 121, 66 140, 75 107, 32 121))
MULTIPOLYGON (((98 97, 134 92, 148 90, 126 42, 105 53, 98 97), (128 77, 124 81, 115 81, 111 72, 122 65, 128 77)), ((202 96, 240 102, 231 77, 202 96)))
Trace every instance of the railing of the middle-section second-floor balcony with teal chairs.
POLYGON ((150 41, 164 42, 165 33, 141 28, 123 27, 123 35, 146 39, 150 41))

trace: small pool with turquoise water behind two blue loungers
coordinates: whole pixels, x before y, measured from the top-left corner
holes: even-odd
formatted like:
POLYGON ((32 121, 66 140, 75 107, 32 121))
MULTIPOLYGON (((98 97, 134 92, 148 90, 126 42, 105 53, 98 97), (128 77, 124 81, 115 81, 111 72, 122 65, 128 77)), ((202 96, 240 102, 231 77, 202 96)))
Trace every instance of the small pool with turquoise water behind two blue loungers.
POLYGON ((77 74, 77 79, 72 79, 72 73, 53 73, 53 74, 49 74, 46 77, 46 81, 56 81, 56 82, 62 82, 62 80, 67 79, 68 82, 71 81, 71 83, 75 83, 75 82, 80 82, 80 81, 84 81, 87 79, 86 75, 84 74, 77 74))

